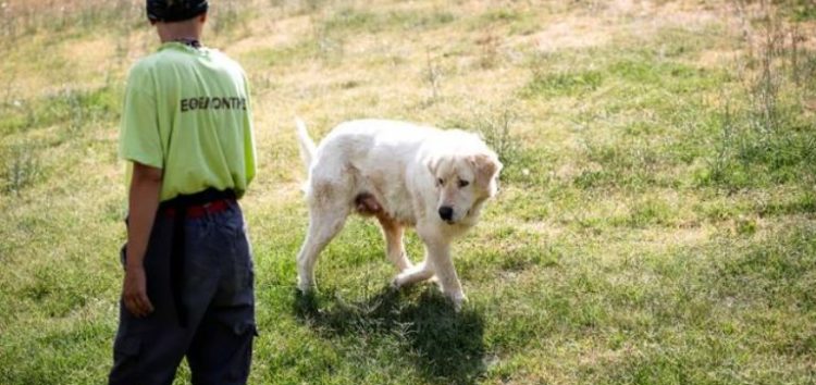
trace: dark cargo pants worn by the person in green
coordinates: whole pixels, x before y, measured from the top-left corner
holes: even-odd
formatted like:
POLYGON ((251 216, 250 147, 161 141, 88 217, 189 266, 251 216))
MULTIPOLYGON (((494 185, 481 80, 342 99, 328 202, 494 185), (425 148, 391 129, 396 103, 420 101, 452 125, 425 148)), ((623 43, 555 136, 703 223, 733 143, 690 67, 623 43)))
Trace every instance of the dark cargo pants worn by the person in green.
POLYGON ((252 259, 240 208, 185 220, 178 323, 171 284, 174 219, 158 213, 145 254, 147 295, 153 312, 133 316, 120 301, 110 384, 171 384, 186 356, 193 384, 245 384, 255 325, 252 259))

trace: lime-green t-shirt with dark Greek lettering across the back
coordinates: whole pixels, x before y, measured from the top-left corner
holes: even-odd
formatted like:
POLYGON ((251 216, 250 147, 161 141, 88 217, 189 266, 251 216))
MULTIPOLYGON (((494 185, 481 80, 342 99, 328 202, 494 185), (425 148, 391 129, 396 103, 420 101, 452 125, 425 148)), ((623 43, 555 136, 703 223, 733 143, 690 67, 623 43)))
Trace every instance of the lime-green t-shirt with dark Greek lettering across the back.
POLYGON ((163 44, 131 69, 119 152, 162 169, 161 201, 210 187, 243 196, 256 171, 244 70, 214 49, 163 44))

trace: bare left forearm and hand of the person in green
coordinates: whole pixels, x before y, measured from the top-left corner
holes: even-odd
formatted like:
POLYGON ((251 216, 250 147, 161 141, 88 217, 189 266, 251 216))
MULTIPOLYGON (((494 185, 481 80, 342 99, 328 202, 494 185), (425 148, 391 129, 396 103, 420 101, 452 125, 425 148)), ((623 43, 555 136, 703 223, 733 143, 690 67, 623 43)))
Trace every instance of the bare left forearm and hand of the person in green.
POLYGON ((159 208, 161 183, 161 169, 138 162, 133 163, 133 178, 127 204, 127 262, 125 264, 122 300, 125 308, 136 316, 145 316, 153 311, 153 306, 147 297, 147 280, 143 261, 156 220, 156 212, 159 208))

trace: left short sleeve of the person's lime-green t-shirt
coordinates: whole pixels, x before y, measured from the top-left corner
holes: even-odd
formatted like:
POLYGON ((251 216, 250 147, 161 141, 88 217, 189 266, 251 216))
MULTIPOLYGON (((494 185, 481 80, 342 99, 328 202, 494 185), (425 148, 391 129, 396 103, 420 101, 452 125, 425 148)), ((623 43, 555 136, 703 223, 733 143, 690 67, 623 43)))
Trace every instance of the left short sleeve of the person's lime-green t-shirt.
POLYGON ((124 160, 163 169, 164 156, 151 87, 149 76, 138 67, 131 70, 125 87, 119 156, 124 160))

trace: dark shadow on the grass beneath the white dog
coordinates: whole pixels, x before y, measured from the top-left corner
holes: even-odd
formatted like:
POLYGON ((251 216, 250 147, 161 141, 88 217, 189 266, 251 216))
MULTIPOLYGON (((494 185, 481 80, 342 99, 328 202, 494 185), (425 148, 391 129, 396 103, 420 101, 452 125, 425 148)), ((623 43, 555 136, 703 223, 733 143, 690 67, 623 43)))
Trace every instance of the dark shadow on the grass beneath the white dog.
POLYGON ((296 290, 294 297, 297 316, 327 337, 398 336, 429 383, 474 384, 485 371, 482 315, 468 307, 456 312, 434 287, 386 287, 359 302, 335 298, 324 307, 318 298, 322 296, 296 290), (406 298, 417 290, 422 291, 416 299, 406 298))

